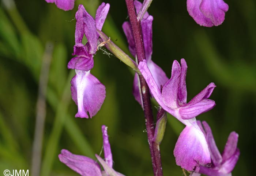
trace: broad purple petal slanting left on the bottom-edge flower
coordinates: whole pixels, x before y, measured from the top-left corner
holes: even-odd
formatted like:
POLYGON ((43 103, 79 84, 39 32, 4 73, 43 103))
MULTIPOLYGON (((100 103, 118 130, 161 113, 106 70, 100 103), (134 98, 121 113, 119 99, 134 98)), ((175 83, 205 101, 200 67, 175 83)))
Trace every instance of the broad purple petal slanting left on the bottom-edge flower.
POLYGON ((59 159, 62 163, 82 176, 101 176, 99 164, 89 157, 74 155, 68 150, 62 149, 59 159))

